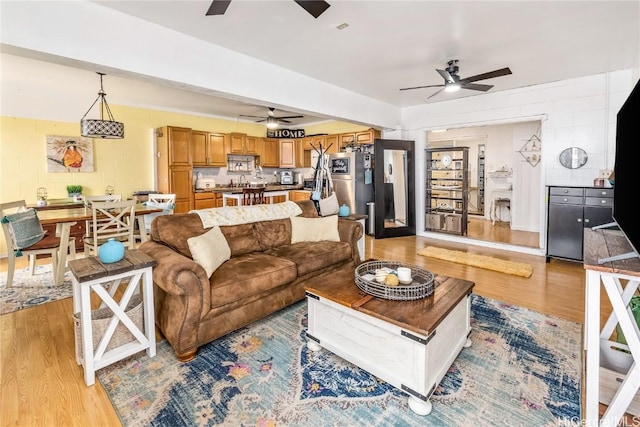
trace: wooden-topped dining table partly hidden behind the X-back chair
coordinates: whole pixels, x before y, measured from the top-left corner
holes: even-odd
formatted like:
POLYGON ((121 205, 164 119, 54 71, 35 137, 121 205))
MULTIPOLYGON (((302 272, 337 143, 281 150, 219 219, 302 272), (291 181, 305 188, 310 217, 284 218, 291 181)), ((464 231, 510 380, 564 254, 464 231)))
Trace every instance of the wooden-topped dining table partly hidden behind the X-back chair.
MULTIPOLYGON (((147 214, 162 212, 162 208, 149 207, 142 203, 135 206, 134 215, 140 228, 141 241, 147 240, 147 228, 144 222, 144 216, 147 214)), ((93 211, 88 207, 76 207, 68 209, 51 209, 38 211, 38 218, 42 225, 56 226, 56 237, 60 238, 60 247, 67 248, 69 246, 69 232, 71 227, 78 221, 88 221, 93 218, 93 211)), ((64 283, 64 273, 67 265, 67 251, 60 251, 58 256, 57 277, 55 277, 56 286, 64 283)))

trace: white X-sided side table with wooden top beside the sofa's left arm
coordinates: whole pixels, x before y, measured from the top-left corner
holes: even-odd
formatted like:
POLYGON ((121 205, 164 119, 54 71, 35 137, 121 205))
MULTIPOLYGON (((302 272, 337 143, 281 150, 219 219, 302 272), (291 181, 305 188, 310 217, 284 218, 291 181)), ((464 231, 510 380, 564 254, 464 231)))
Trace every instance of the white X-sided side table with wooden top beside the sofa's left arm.
MULTIPOLYGON (((137 249, 125 251, 124 258, 112 264, 103 264, 95 256, 69 261, 73 281, 73 310, 80 314, 82 332, 83 358, 77 362, 84 366, 84 381, 88 386, 95 383, 95 372, 100 368, 142 350, 146 350, 149 357, 156 355, 152 277, 155 265, 155 259, 137 249), (129 283, 120 300, 116 301, 114 295, 123 279, 129 283), (141 281, 144 331, 125 313, 129 300, 139 292, 141 281), (113 312, 97 346, 93 342, 91 291, 100 297, 102 305, 113 312), (120 322, 133 334, 135 340, 107 351, 107 345, 120 322)), ((76 346, 78 345, 80 343, 76 342, 76 346)))

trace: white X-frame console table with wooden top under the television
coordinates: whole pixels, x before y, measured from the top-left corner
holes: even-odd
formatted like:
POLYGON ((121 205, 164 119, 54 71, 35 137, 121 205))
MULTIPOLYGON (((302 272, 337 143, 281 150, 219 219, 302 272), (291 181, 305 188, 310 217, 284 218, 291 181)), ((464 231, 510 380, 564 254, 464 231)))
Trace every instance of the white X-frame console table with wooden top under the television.
POLYGON ((640 258, 599 264, 631 251, 619 230, 584 230, 586 270, 586 425, 615 426, 625 412, 640 415, 640 330, 629 301, 640 285, 640 258), (600 285, 613 311, 600 330, 600 285), (611 339, 620 323, 627 345, 611 339), (599 402, 609 405, 598 420, 599 402))

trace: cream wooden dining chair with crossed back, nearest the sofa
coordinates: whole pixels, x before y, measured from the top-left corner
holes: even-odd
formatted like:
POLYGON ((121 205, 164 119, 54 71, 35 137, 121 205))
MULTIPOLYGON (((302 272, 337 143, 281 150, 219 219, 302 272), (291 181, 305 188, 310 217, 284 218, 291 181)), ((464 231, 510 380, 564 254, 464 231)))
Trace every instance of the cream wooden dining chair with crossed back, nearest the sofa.
POLYGON ((135 200, 92 201, 90 207, 91 219, 82 238, 85 256, 98 255, 100 245, 109 239, 122 242, 129 249, 135 248, 135 200))

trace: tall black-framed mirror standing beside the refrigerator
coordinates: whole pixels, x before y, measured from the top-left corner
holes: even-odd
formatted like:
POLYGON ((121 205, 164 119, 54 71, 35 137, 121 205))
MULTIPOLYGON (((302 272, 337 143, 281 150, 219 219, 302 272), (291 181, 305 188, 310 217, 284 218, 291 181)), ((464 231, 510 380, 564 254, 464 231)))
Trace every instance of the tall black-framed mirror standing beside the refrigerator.
POLYGON ((412 236, 415 221, 414 142, 376 139, 375 237, 412 236))

